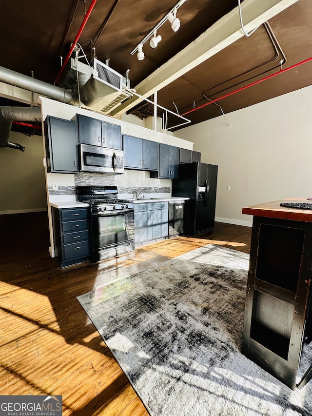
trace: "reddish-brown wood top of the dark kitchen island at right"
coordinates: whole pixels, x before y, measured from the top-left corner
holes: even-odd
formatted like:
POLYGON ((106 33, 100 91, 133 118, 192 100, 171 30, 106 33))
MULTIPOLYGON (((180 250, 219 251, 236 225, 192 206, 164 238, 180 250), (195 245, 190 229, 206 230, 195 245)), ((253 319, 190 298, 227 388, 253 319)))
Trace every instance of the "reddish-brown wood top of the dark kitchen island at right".
POLYGON ((279 199, 277 201, 264 202, 250 207, 244 207, 242 213, 257 217, 282 218, 312 222, 312 210, 281 207, 281 202, 301 202, 312 204, 312 200, 308 200, 307 198, 286 198, 279 199))

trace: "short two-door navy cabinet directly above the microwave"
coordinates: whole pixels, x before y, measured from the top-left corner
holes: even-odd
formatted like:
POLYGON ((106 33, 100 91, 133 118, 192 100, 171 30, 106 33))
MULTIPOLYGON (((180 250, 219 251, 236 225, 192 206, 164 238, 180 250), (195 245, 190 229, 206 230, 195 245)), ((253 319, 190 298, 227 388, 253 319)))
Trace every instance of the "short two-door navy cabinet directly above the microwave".
POLYGON ((121 127, 77 114, 79 143, 122 150, 121 127))

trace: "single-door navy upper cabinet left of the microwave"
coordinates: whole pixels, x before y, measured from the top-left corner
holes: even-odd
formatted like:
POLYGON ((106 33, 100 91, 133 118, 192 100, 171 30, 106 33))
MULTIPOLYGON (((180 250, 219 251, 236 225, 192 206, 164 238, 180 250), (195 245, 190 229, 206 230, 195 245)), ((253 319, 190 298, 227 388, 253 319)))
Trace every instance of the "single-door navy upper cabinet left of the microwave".
POLYGON ((47 116, 44 121, 47 171, 52 173, 77 173, 76 123, 47 116))

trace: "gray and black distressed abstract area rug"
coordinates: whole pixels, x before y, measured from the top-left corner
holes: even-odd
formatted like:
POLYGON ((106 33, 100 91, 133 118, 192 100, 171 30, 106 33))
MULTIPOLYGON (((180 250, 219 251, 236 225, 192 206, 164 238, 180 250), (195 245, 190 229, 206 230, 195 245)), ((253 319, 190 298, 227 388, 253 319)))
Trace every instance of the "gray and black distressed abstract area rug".
POLYGON ((312 415, 240 353, 248 264, 209 244, 78 297, 150 415, 312 415))

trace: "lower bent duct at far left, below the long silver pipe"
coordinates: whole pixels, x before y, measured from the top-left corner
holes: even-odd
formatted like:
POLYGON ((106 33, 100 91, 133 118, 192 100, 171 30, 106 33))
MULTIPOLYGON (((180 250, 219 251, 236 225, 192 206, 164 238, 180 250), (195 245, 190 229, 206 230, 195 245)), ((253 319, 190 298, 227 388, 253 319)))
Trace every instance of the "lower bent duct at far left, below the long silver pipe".
POLYGON ((41 121, 39 107, 0 107, 0 147, 25 150, 18 143, 9 142, 12 121, 41 121))

